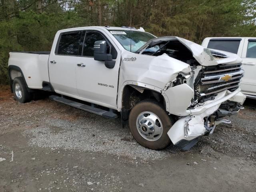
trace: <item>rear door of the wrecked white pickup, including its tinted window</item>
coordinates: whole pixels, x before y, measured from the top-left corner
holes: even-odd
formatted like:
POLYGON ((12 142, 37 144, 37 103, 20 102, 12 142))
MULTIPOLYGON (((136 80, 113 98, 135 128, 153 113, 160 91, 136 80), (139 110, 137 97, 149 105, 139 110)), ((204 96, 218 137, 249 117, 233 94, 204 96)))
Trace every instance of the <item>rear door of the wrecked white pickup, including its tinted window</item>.
POLYGON ((76 67, 81 53, 82 31, 60 33, 55 51, 49 58, 49 78, 54 90, 60 94, 78 95, 76 67))

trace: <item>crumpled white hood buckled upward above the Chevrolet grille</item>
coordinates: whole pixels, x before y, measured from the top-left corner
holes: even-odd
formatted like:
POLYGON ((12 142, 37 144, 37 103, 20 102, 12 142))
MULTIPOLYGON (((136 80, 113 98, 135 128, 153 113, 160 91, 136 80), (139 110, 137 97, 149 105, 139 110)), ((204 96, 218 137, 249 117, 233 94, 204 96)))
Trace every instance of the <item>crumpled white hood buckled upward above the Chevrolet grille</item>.
POLYGON ((142 46, 140 50, 144 49, 148 45, 154 46, 154 45, 160 44, 161 42, 172 41, 172 40, 178 40, 182 44, 184 44, 184 46, 186 46, 192 52, 193 57, 202 66, 212 66, 212 65, 218 65, 218 64, 236 64, 236 63, 242 62, 242 59, 237 54, 220 51, 220 50, 215 50, 215 51, 218 51, 219 53, 224 54, 227 57, 216 58, 212 55, 210 49, 205 48, 192 41, 186 40, 184 38, 176 37, 176 36, 166 36, 166 37, 151 39, 144 46, 142 46))

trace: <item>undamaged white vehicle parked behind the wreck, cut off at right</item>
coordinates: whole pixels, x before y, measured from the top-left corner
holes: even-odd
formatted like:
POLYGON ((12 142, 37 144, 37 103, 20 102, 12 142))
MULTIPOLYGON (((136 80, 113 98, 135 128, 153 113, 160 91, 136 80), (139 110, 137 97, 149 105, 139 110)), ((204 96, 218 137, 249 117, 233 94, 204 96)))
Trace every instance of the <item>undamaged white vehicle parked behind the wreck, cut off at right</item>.
POLYGON ((238 54, 244 70, 240 88, 247 98, 256 99, 256 37, 208 37, 202 46, 238 54))

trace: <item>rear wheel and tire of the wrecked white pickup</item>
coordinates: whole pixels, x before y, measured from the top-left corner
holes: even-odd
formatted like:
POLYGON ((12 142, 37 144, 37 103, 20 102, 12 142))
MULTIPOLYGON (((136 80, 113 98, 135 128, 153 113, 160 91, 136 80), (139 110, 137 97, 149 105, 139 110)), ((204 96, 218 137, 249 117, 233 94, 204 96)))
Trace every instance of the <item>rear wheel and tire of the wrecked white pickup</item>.
POLYGON ((14 98, 20 103, 30 102, 32 94, 30 94, 26 88, 26 83, 22 77, 16 77, 13 80, 12 89, 14 98))

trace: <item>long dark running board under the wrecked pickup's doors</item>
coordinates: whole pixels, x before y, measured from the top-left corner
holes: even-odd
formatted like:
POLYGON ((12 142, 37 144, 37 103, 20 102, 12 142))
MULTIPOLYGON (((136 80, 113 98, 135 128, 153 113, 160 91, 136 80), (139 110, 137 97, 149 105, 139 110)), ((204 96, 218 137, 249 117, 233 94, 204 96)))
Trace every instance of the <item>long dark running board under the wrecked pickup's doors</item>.
POLYGON ((111 119, 117 118, 117 114, 115 114, 111 111, 105 111, 105 110, 102 110, 102 109, 99 109, 99 108, 96 108, 93 106, 78 103, 78 102, 63 98, 63 97, 56 96, 56 95, 51 95, 51 96, 49 96, 49 98, 50 98, 50 100, 58 101, 60 103, 64 103, 69 106, 76 107, 76 108, 79 108, 79 109, 82 109, 82 110, 85 110, 85 111, 88 111, 88 112, 91 112, 91 113, 94 113, 94 114, 97 114, 97 115, 100 115, 100 116, 103 116, 106 118, 111 118, 111 119))

